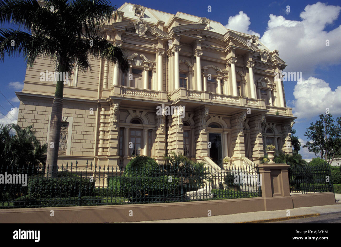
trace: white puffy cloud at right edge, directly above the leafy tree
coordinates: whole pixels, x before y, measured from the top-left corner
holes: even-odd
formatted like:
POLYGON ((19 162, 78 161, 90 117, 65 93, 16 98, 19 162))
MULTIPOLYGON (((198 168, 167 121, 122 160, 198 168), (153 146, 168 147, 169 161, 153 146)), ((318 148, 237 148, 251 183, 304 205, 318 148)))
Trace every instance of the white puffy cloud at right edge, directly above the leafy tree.
POLYGON ((341 86, 332 91, 322 79, 309 77, 297 82, 294 88, 294 115, 299 118, 311 118, 324 114, 329 108, 331 115, 341 114, 341 86))

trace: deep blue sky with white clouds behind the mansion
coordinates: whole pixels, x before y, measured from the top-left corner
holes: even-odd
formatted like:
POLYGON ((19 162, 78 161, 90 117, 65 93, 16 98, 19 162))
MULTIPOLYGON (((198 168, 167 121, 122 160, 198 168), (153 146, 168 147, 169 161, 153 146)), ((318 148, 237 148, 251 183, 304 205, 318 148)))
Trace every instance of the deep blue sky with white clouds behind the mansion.
MULTIPOLYGON (((124 3, 111 2, 117 7, 124 3)), ((325 108, 330 109, 333 117, 341 116, 339 1, 158 0, 132 3, 171 14, 179 11, 207 17, 229 29, 257 34, 270 50, 279 50, 279 56, 288 64, 284 72, 302 72, 302 82, 284 82, 287 106, 293 107, 298 117, 294 129, 302 143, 307 141, 304 136, 306 128, 325 112, 325 108), (211 12, 208 12, 208 5, 211 12), (290 12, 287 12, 287 6, 290 6, 290 12), (329 46, 326 46, 326 40, 329 40, 329 46)), ((25 72, 23 57, 5 56, 4 62, 0 63, 0 91, 15 107, 19 106, 19 102, 14 91, 22 89, 25 72)), ((12 113, 11 104, 0 94, 0 112, 13 119, 9 115, 12 113)), ((11 121, 0 114, 0 124, 8 122, 11 121)), ((301 150, 301 154, 304 158, 314 157, 305 149, 301 150)))

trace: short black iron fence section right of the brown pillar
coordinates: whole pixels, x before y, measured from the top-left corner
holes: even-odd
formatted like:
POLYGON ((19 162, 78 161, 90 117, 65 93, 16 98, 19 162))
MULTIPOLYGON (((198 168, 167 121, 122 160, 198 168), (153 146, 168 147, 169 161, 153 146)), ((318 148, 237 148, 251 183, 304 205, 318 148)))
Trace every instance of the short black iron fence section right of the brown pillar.
POLYGON ((291 193, 334 192, 328 164, 290 167, 289 184, 291 193))

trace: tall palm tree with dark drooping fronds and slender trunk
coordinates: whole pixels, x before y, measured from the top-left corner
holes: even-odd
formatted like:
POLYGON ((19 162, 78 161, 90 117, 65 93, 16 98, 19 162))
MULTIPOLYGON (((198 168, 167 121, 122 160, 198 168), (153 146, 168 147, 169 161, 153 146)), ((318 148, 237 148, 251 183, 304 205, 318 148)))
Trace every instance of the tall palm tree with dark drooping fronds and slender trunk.
MULTIPOLYGON (((107 0, 0 0, 0 23, 27 30, 0 30, 0 61, 5 53, 13 56, 23 52, 32 67, 39 56, 51 57, 58 74, 71 74, 75 64, 79 71, 91 71, 89 57, 94 57, 117 63, 127 73, 129 62, 122 50, 97 34, 116 13, 116 7, 107 0)), ((49 176, 57 172, 64 80, 58 76, 52 104, 46 161, 49 176)))

